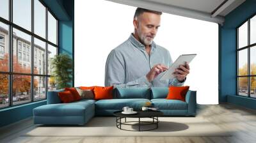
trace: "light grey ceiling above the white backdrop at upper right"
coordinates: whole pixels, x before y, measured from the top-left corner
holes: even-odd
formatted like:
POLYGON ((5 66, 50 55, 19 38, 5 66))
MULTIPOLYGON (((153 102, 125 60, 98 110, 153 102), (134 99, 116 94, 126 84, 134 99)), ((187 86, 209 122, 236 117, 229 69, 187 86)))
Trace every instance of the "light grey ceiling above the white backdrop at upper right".
POLYGON ((108 0, 163 11, 173 15, 190 17, 223 24, 225 15, 242 4, 245 0, 108 0))

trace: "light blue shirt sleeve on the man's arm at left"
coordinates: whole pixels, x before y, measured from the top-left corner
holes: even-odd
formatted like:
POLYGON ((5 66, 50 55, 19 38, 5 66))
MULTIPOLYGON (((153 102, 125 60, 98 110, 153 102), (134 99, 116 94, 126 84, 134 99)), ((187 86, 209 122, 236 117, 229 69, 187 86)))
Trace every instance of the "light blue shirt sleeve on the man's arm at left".
POLYGON ((114 87, 151 87, 146 75, 125 83, 125 60, 124 56, 116 50, 109 53, 105 67, 105 86, 114 87))

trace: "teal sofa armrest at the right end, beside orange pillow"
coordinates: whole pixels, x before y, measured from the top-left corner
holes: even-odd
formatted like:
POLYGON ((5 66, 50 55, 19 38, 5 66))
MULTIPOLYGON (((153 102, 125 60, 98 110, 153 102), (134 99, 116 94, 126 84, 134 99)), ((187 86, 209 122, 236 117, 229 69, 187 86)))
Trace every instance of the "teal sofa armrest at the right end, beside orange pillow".
POLYGON ((186 94, 186 103, 188 103, 188 115, 196 115, 196 91, 188 91, 186 94))

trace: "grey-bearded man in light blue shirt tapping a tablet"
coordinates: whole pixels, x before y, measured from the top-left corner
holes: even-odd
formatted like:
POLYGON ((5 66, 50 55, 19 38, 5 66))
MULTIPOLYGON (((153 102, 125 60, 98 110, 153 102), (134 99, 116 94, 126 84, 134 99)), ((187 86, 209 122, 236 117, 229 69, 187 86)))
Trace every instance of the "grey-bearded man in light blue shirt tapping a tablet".
POLYGON ((154 43, 162 12, 137 8, 134 14, 134 33, 113 49, 106 61, 105 86, 168 87, 182 86, 189 65, 175 69, 175 79, 159 80, 172 65, 168 50, 154 43))

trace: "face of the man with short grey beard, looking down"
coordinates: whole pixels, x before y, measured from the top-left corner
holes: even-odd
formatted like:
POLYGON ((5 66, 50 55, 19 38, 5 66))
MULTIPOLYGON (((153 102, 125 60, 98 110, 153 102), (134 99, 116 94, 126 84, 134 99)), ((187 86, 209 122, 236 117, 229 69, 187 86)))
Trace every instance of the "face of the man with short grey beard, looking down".
POLYGON ((139 15, 134 25, 135 33, 138 34, 138 38, 143 45, 151 45, 154 37, 156 36, 158 27, 161 22, 161 15, 156 13, 144 12, 139 15))

